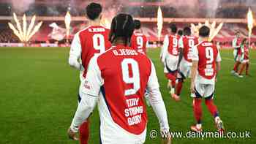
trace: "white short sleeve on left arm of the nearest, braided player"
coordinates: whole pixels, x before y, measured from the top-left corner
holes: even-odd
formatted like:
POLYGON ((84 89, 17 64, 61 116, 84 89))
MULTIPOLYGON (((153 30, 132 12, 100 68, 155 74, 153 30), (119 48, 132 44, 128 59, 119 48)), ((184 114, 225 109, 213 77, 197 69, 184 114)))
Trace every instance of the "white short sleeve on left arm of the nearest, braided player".
POLYGON ((101 72, 97 64, 98 56, 91 58, 86 73, 86 80, 83 81, 82 92, 91 96, 99 96, 100 87, 103 85, 101 72))

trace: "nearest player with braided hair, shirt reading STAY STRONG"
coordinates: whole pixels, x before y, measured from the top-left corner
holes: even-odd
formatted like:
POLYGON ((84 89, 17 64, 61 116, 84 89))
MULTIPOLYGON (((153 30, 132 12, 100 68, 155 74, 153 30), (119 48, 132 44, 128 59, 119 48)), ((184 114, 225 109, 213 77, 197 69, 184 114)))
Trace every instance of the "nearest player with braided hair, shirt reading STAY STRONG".
POLYGON ((78 105, 68 130, 70 138, 75 139, 80 124, 98 105, 101 143, 144 143, 147 116, 143 100, 148 88, 162 136, 170 143, 167 112, 154 64, 146 55, 128 46, 133 31, 131 15, 118 14, 113 18, 109 37, 113 47, 90 61, 82 88, 86 99, 78 105))

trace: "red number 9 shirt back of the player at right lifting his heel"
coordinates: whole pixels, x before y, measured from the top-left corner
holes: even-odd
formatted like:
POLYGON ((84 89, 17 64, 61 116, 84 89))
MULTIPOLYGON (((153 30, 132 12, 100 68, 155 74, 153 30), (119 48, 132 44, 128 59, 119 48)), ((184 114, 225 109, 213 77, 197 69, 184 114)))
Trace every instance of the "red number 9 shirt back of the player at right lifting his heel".
POLYGON ((203 41, 197 45, 198 50, 198 73, 206 79, 212 79, 216 75, 216 62, 219 50, 212 42, 203 41))

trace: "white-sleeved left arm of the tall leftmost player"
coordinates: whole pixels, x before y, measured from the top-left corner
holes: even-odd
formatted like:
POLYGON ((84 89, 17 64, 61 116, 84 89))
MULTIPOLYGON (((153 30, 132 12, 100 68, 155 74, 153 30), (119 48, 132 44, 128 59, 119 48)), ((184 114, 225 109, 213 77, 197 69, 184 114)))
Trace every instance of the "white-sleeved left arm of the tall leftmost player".
POLYGON ((79 33, 77 33, 75 34, 69 51, 69 65, 78 70, 83 70, 82 64, 79 62, 81 51, 82 48, 80 44, 79 33))

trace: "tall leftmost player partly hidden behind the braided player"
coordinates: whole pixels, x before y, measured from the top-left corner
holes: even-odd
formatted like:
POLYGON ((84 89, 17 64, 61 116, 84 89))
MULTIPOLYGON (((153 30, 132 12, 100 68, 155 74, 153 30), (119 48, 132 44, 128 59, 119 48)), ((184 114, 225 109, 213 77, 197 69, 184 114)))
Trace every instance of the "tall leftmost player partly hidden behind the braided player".
MULTIPOLYGON (((86 77, 88 64, 94 55, 105 52, 111 47, 108 40, 109 29, 100 26, 102 18, 102 6, 91 3, 86 7, 86 17, 89 26, 75 34, 69 52, 69 65, 80 70, 81 83, 86 77), (79 61, 81 59, 81 63, 79 61)), ((81 88, 81 86, 80 86, 81 88)), ((83 99, 81 92, 78 93, 78 102, 83 99)), ((79 129, 80 143, 88 143, 89 121, 84 122, 79 129)))

